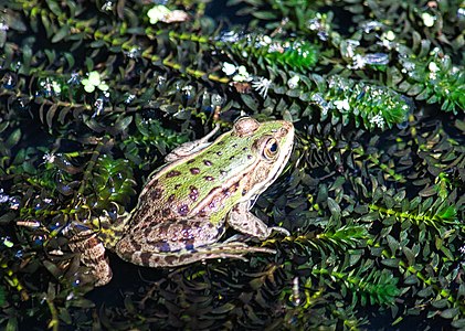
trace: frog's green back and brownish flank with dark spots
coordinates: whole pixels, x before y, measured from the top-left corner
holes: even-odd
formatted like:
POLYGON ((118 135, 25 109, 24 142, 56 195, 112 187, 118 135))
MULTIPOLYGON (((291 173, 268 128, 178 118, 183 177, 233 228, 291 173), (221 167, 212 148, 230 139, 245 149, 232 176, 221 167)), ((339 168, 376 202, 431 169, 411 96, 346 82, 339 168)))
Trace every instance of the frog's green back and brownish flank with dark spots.
POLYGON ((253 142, 226 132, 205 149, 168 164, 141 192, 134 217, 154 222, 208 215, 220 221, 231 201, 242 195, 241 182, 256 158, 253 142))

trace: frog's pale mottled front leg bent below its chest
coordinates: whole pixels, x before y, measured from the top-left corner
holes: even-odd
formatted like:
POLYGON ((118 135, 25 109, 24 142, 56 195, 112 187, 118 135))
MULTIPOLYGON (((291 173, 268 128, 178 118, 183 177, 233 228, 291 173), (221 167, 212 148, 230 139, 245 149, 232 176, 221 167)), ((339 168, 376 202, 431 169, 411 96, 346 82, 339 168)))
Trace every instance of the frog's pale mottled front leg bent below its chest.
POLYGON ((228 215, 228 224, 234 229, 257 237, 261 241, 266 239, 273 231, 289 236, 289 232, 281 226, 268 227, 262 220, 256 217, 250 211, 250 203, 243 202, 235 205, 228 215))

